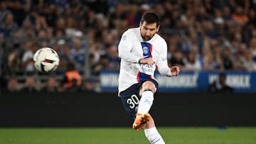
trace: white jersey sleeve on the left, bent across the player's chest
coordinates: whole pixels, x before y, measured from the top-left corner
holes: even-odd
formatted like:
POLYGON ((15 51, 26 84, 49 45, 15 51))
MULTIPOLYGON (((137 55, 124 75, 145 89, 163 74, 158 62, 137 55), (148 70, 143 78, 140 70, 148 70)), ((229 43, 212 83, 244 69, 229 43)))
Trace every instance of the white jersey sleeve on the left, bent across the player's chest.
POLYGON ((133 33, 126 31, 123 33, 122 38, 118 45, 118 55, 127 62, 138 63, 140 57, 133 55, 132 50, 132 36, 133 33))

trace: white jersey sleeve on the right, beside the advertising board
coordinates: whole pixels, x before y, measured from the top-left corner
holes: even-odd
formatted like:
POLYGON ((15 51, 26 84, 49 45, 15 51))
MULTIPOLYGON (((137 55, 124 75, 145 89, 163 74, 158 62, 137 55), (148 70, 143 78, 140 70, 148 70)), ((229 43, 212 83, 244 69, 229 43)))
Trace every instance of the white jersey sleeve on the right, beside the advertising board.
POLYGON ((159 60, 157 61, 158 71, 161 75, 171 77, 171 70, 167 62, 167 44, 163 40, 161 43, 161 52, 159 53, 159 60))

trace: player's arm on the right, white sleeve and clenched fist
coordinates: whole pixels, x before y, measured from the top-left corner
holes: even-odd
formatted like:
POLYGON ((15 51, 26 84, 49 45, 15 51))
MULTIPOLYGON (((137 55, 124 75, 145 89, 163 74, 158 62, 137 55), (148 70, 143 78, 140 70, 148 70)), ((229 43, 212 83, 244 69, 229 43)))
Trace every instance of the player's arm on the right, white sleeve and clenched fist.
POLYGON ((157 60, 157 67, 158 67, 158 71, 160 74, 162 75, 166 75, 166 76, 178 76, 180 69, 177 66, 172 66, 169 67, 168 66, 168 62, 167 62, 167 45, 164 42, 161 45, 161 52, 159 52, 159 59, 157 60))

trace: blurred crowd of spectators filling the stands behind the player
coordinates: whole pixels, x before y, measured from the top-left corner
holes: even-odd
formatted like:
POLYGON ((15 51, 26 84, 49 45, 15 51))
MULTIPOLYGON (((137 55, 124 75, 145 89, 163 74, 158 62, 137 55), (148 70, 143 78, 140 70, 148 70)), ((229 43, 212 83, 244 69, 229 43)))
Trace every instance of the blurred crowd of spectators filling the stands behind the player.
MULTIPOLYGON (((55 74, 65 77, 72 64, 82 77, 80 90, 94 92, 97 82, 84 75, 119 70, 120 35, 139 26, 144 11, 161 18, 159 34, 168 44, 169 65, 256 72, 254 0, 1 0, 1 87, 12 91, 21 82, 17 75, 26 75, 23 87, 16 88, 25 89, 36 72, 33 52, 50 47, 60 57, 55 74)), ((50 75, 37 90, 56 83, 58 92, 65 91, 61 82, 50 75)))

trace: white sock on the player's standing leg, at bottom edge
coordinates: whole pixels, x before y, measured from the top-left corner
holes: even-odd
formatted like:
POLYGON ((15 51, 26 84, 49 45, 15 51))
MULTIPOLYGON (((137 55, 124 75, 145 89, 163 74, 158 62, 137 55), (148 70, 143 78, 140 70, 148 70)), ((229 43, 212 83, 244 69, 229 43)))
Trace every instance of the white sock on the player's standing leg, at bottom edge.
POLYGON ((144 129, 144 133, 151 144, 165 144, 156 127, 144 129))

